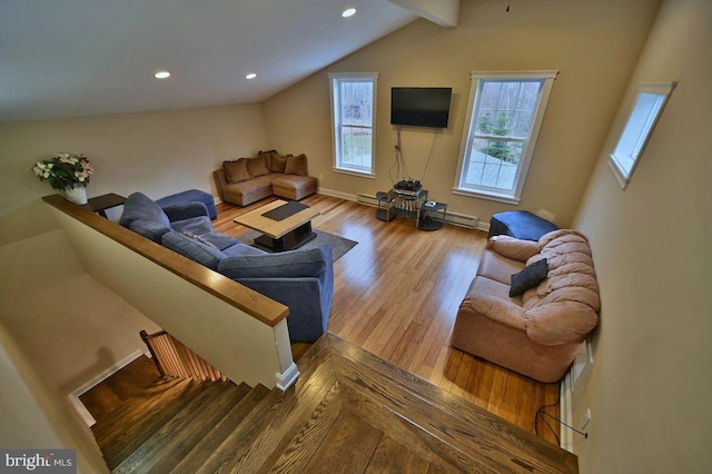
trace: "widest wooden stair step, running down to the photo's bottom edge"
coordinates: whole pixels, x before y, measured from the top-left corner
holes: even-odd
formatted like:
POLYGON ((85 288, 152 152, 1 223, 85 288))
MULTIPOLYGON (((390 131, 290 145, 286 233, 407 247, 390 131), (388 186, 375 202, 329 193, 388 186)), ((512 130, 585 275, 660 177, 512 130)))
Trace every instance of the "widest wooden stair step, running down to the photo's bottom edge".
POLYGON ((206 383, 206 389, 185 405, 113 472, 166 473, 182 460, 250 391, 247 384, 206 383))

